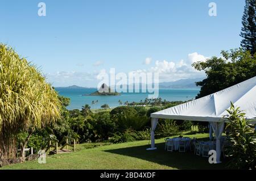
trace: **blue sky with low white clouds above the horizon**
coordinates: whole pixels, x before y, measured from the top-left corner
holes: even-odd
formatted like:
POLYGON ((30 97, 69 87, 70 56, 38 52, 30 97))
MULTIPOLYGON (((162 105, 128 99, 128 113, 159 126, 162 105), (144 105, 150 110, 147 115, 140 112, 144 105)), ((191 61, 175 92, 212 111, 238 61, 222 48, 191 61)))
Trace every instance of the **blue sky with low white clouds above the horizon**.
POLYGON ((0 42, 53 86, 97 86, 100 71, 158 71, 160 82, 201 77, 191 62, 240 47, 243 0, 0 0, 0 42), (38 16, 38 3, 46 16, 38 16), (209 16, 209 3, 217 16, 209 16), (147 60, 145 62, 145 60, 147 60), (182 65, 182 66, 181 66, 182 65))

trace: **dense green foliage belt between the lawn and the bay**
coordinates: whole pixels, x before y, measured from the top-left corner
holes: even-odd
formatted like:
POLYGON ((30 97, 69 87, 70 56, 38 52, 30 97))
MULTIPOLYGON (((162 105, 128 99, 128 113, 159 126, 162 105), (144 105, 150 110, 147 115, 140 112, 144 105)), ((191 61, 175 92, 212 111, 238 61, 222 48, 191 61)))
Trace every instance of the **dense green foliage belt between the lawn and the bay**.
MULTIPOLYGON (((73 137, 78 143, 84 142, 127 142, 135 140, 150 140, 150 114, 160 111, 166 106, 120 106, 113 110, 102 110, 93 112, 89 105, 81 110, 67 110, 70 100, 59 96, 61 102, 61 117, 43 131, 38 129, 32 135, 28 146, 39 150, 49 137, 54 134, 57 140, 64 136, 73 137)), ((158 99, 161 100, 161 99, 158 99)), ((162 101, 162 100, 161 100, 162 101)), ((166 102, 176 106, 183 102, 166 102)), ((162 102, 160 102, 162 104, 162 102)), ((191 121, 161 120, 156 130, 156 137, 166 137, 181 131, 191 130, 191 121)), ((22 135, 27 133, 20 133, 22 135)))

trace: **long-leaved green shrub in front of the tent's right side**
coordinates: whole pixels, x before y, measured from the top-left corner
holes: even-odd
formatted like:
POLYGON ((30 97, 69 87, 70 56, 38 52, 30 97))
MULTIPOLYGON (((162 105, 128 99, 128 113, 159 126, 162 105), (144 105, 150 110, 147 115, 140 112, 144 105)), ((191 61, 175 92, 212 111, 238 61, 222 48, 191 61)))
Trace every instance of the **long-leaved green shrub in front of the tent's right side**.
POLYGON ((229 120, 227 128, 230 146, 228 146, 229 167, 238 169, 256 169, 256 136, 253 125, 245 119, 245 113, 240 107, 235 108, 231 103, 230 110, 227 110, 229 120))

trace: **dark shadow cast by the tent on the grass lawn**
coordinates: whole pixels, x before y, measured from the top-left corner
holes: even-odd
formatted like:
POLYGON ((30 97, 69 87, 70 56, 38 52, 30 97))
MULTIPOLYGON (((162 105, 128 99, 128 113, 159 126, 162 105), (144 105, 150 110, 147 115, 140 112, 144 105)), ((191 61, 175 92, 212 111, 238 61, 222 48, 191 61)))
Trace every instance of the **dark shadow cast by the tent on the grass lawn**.
POLYGON ((225 169, 225 162, 210 164, 208 158, 193 154, 193 151, 179 153, 179 151, 164 150, 164 143, 156 144, 156 150, 146 150, 150 145, 133 146, 121 149, 105 150, 109 153, 126 155, 146 161, 166 165, 174 169, 225 169))

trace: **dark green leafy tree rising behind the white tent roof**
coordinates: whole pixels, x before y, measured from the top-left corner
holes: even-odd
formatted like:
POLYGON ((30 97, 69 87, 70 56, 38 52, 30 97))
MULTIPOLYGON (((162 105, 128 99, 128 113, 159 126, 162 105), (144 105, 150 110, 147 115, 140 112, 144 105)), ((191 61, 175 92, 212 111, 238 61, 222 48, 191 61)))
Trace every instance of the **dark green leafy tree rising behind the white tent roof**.
POLYGON ((196 70, 204 70, 207 78, 197 82, 201 90, 196 98, 212 94, 256 76, 256 55, 241 49, 222 51, 222 57, 212 57, 193 64, 196 70))

